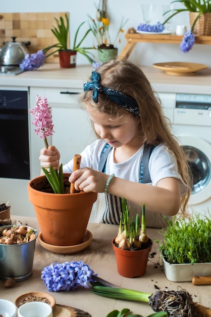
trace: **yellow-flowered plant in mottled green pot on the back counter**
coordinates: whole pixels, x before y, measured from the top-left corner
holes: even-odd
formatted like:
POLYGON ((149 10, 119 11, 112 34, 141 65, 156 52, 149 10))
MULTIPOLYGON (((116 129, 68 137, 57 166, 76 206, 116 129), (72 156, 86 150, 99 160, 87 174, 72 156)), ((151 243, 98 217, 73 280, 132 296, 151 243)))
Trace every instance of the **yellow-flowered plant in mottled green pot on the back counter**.
MULTIPOLYGON (((111 41, 109 27, 110 20, 108 18, 107 6, 100 10, 97 8, 96 19, 88 16, 90 19, 89 26, 97 42, 98 58, 101 63, 116 59, 118 55, 118 48, 115 47, 118 36, 124 32, 123 27, 128 20, 122 19, 121 25, 117 31, 114 41, 111 41)), ((119 38, 119 43, 121 42, 119 38)))

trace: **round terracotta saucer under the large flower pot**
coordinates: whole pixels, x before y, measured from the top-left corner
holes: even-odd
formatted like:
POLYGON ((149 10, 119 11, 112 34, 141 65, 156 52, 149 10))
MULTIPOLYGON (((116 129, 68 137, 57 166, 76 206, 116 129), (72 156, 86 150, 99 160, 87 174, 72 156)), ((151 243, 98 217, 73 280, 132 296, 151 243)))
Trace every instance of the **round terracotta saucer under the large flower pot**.
POLYGON ((71 253, 80 252, 84 250, 85 248, 87 248, 92 241, 92 233, 89 230, 86 230, 83 242, 76 246, 60 247, 60 246, 49 245, 43 241, 41 232, 38 234, 38 241, 40 246, 42 246, 42 248, 44 248, 45 250, 49 252, 57 253, 57 254, 71 254, 71 253))

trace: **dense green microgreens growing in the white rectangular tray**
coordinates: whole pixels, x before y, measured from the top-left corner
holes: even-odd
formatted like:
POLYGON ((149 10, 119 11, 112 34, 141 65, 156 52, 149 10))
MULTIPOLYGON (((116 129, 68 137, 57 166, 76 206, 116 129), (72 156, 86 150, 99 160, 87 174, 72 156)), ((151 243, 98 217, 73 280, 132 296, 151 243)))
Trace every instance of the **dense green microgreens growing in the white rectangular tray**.
POLYGON ((195 215, 191 220, 168 221, 168 227, 161 230, 163 240, 159 250, 172 264, 211 262, 211 220, 195 215))

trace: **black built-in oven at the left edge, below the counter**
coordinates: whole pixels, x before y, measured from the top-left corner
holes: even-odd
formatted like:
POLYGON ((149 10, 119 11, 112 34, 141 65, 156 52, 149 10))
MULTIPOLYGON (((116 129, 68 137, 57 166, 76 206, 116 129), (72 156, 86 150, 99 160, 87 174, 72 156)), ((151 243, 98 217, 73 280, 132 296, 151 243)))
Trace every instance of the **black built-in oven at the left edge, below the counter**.
POLYGON ((30 179, 28 89, 0 89, 0 177, 30 179))

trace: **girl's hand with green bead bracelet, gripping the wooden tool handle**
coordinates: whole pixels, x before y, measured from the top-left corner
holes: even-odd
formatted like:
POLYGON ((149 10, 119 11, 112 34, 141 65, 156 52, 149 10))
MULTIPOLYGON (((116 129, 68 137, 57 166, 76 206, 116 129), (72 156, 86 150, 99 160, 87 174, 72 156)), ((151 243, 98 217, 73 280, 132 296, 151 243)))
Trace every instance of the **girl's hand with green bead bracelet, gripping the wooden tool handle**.
POLYGON ((69 177, 69 182, 74 183, 76 190, 104 192, 108 179, 109 175, 85 167, 73 172, 69 177))

